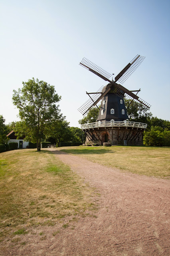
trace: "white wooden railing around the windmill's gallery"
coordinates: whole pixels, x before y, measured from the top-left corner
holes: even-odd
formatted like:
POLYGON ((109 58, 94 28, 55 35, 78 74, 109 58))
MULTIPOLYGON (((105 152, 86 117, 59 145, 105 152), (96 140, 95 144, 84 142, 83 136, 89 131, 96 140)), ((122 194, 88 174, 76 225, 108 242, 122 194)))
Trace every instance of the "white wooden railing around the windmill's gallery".
POLYGON ((130 122, 130 121, 115 121, 115 122, 95 122, 90 124, 81 124, 81 129, 93 129, 93 128, 100 128, 100 127, 134 127, 134 128, 144 128, 146 129, 147 124, 138 123, 138 122, 130 122))

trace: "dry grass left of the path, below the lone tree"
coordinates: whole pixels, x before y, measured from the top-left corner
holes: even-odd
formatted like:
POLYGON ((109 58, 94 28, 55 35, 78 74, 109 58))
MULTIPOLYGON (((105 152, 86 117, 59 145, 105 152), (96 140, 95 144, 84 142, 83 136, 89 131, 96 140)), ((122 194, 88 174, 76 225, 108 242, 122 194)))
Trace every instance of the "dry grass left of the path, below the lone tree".
MULTIPOLYGON (((94 189, 74 174, 54 154, 35 149, 0 154, 0 240, 37 226, 54 226, 65 217, 95 209, 94 189)), ((62 228, 62 226, 61 226, 62 228)), ((45 238, 43 238, 45 239, 45 238)))

